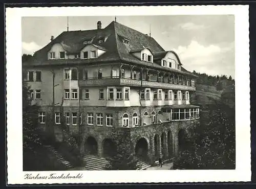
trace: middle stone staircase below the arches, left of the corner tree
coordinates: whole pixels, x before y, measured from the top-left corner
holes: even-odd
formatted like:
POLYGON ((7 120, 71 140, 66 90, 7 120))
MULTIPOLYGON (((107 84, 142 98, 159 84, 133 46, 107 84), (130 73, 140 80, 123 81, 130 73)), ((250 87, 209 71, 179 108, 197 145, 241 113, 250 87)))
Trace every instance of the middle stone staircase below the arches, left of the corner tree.
POLYGON ((86 155, 83 157, 86 170, 105 170, 106 164, 109 161, 106 158, 98 157, 95 155, 86 155))

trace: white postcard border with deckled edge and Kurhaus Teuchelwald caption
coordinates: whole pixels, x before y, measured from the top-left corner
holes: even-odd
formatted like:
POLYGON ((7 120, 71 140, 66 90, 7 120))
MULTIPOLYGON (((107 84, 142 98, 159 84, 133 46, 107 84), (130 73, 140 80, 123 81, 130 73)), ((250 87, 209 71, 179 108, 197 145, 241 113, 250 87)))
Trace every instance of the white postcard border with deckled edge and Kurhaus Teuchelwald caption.
POLYGON ((39 7, 6 9, 8 184, 250 181, 249 16, 247 5, 39 7), (121 15, 235 15, 236 170, 47 171, 23 172, 22 17, 121 15), (80 179, 25 179, 26 174, 77 175, 80 179))

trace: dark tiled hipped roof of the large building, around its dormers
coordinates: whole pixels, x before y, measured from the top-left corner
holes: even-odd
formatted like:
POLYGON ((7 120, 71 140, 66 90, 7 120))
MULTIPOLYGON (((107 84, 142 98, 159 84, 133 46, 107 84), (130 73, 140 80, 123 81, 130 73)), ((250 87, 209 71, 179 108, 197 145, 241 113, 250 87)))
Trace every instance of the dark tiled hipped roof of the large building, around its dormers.
POLYGON ((154 60, 155 58, 164 56, 167 52, 169 52, 164 51, 164 49, 156 42, 153 37, 121 25, 118 22, 112 21, 104 29, 62 32, 44 48, 35 52, 33 60, 31 62, 25 63, 25 65, 63 65, 68 63, 123 61, 129 64, 138 64, 140 66, 147 66, 153 69, 158 68, 166 71, 169 70, 170 72, 181 74, 183 73, 195 77, 195 75, 185 69, 176 70, 163 67, 157 63, 145 62, 130 53, 131 51, 134 52, 145 48, 150 49, 154 56, 156 56, 154 57, 154 60), (122 42, 123 38, 130 40, 129 45, 122 42), (104 39, 100 45, 98 44, 99 39, 104 39), (87 45, 83 44, 83 41, 89 40, 91 40, 92 45, 97 45, 100 49, 106 50, 106 52, 96 59, 89 60, 48 60, 48 52, 50 51, 52 45, 55 43, 60 43, 63 46, 63 49, 67 51, 67 53, 75 54, 80 53, 81 49, 87 45))

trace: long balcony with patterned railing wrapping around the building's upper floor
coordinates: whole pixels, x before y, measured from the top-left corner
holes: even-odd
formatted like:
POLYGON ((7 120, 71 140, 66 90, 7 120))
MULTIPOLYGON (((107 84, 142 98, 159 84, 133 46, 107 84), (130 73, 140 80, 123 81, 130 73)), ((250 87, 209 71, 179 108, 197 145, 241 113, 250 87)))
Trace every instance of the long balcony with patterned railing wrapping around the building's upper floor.
MULTIPOLYGON (((87 87, 87 86, 141 86, 140 80, 135 79, 126 79, 126 78, 102 78, 102 79, 87 79, 87 80, 79 80, 79 86, 87 87)), ((171 83, 163 83, 156 81, 142 81, 142 87, 155 87, 155 88, 163 88, 163 89, 176 89, 176 90, 190 90, 195 91, 196 87, 181 85, 181 84, 171 84, 171 83)))

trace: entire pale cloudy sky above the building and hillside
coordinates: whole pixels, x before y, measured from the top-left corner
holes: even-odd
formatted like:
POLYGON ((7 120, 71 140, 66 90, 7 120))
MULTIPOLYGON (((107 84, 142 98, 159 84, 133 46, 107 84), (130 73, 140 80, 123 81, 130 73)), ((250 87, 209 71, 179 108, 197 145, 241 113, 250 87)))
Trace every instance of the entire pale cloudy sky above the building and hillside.
MULTIPOLYGON (((69 31, 102 28, 115 16, 69 16, 69 31)), ((31 54, 67 31, 67 17, 23 17, 23 54, 31 54)), ((190 72, 234 78, 233 15, 117 16, 117 22, 151 36, 165 51, 175 51, 190 72)))

